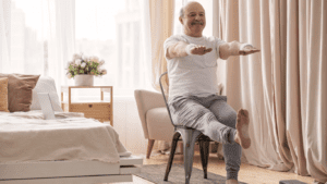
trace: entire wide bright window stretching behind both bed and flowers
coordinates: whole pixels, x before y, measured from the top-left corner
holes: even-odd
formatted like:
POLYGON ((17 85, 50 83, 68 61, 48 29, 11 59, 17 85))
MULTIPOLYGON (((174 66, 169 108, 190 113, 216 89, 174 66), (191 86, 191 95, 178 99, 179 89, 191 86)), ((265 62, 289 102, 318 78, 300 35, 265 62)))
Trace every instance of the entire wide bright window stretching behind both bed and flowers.
POLYGON ((150 63, 142 47, 142 0, 5 2, 9 62, 0 61, 0 72, 49 75, 58 87, 72 85, 73 79, 65 77, 66 63, 73 53, 83 52, 105 60, 107 74, 95 77, 95 85, 113 85, 116 95, 130 96, 135 88, 152 88, 146 74, 150 63), (66 25, 72 25, 69 32, 66 25))

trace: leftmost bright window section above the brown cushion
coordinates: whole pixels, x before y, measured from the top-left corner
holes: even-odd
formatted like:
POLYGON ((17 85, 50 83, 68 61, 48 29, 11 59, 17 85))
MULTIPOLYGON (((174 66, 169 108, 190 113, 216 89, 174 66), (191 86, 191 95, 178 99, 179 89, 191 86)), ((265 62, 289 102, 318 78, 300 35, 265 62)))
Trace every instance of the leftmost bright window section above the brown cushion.
MULTIPOLYGON (((47 73, 47 39, 44 30, 47 25, 43 22, 41 0, 8 1, 10 24, 5 27, 9 61, 1 64, 3 73, 47 73), (44 26, 44 28, 41 28, 44 26)), ((1 56, 2 57, 2 56, 1 56)))

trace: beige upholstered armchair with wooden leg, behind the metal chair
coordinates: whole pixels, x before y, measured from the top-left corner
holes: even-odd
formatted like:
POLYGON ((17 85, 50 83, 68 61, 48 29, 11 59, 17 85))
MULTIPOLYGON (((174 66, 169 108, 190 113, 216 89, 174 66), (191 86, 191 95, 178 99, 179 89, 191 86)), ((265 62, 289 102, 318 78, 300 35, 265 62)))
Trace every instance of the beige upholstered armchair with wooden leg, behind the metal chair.
POLYGON ((173 125, 159 93, 148 90, 134 91, 138 115, 142 122, 144 137, 148 139, 146 158, 148 159, 155 140, 171 142, 173 125))

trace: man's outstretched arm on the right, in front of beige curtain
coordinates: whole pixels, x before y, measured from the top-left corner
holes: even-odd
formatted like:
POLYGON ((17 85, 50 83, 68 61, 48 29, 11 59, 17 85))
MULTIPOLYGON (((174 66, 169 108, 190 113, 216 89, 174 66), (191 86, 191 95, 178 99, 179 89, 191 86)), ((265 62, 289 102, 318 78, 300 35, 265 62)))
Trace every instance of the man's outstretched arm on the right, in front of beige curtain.
POLYGON ((230 56, 247 56, 261 51, 252 45, 231 41, 221 44, 219 47, 219 56, 222 60, 227 60, 230 56))

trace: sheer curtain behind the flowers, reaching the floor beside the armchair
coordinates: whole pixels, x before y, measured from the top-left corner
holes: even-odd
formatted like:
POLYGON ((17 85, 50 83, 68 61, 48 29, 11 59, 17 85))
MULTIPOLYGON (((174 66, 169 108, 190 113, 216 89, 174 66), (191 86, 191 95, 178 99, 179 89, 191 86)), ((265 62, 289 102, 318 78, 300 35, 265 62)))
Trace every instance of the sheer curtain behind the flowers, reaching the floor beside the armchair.
MULTIPOLYGON (((95 85, 113 86, 113 127, 130 151, 145 155, 147 142, 141 134, 134 89, 154 90, 149 2, 78 0, 75 11, 75 51, 105 60, 108 74, 95 77, 95 85)), ((97 93, 84 95, 98 98, 97 93)))

